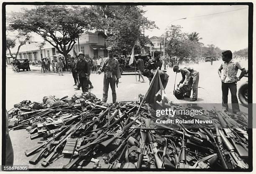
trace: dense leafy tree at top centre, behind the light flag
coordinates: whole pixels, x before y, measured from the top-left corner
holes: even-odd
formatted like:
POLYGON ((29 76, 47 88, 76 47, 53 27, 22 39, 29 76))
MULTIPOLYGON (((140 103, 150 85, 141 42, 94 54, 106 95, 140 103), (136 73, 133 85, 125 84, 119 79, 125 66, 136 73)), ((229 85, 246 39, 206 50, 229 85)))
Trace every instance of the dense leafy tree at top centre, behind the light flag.
POLYGON ((116 54, 121 54, 123 49, 130 53, 138 37, 143 47, 148 42, 143 30, 157 28, 154 21, 143 16, 145 11, 139 6, 94 5, 92 9, 100 17, 97 30, 105 31, 107 44, 113 46, 116 54))

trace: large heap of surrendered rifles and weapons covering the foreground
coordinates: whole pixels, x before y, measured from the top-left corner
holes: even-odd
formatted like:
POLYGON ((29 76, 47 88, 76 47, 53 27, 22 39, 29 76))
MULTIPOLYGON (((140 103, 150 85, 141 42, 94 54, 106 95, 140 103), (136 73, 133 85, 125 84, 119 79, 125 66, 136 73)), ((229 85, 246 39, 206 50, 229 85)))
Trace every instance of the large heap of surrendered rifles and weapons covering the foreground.
POLYGON ((91 162, 95 169, 101 163, 110 169, 248 169, 247 128, 235 128, 226 113, 207 110, 205 116, 214 120, 208 128, 173 128, 156 125, 152 109, 141 101, 106 105, 94 95, 74 95, 55 102, 25 100, 8 112, 10 130, 26 128, 40 141, 25 151, 30 164, 46 167, 64 155, 70 159, 64 169, 91 162))

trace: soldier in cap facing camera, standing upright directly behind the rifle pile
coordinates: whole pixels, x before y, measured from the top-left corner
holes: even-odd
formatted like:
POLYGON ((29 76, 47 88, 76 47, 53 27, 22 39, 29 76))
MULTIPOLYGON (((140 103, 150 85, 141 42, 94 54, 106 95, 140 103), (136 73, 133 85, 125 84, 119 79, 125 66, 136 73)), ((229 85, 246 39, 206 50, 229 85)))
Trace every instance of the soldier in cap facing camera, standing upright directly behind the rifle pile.
POLYGON ((119 78, 121 78, 118 60, 113 58, 113 48, 108 48, 108 57, 102 60, 101 67, 98 71, 100 74, 104 72, 103 79, 103 102, 108 100, 108 87, 110 84, 112 90, 113 103, 116 102, 115 84, 118 84, 119 78))

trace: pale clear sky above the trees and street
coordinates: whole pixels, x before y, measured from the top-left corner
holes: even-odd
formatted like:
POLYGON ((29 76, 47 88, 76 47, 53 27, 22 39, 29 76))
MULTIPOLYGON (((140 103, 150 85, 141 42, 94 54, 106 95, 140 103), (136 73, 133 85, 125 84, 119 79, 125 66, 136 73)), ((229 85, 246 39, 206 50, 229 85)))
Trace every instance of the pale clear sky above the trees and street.
MULTIPOLYGON (((32 6, 7 5, 6 12, 18 12, 22 7, 32 6)), ((205 46, 214 44, 220 49, 231 51, 248 47, 247 5, 147 5, 142 8, 146 11, 144 16, 155 21, 159 27, 146 30, 145 34, 149 37, 161 36, 166 27, 173 24, 182 26, 185 33, 199 33, 202 38, 200 42, 205 46)), ((35 39, 40 37, 35 35, 35 39)))

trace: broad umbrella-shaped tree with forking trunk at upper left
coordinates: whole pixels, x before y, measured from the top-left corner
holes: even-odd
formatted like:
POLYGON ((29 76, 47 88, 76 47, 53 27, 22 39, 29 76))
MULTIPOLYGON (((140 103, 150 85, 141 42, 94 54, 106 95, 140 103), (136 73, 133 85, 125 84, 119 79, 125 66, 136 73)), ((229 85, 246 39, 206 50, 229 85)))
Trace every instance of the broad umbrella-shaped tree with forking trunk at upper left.
POLYGON ((37 33, 63 54, 66 61, 81 31, 90 31, 97 25, 97 14, 78 5, 35 5, 31 10, 23 8, 12 13, 10 18, 11 28, 37 33))

